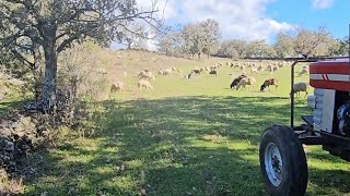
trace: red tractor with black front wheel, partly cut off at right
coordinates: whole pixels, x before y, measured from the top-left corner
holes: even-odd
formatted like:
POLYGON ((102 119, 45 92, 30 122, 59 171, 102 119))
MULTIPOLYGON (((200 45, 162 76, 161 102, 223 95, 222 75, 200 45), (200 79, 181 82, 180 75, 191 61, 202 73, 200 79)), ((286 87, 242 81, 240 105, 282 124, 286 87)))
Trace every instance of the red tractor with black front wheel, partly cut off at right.
POLYGON ((307 163, 302 144, 322 145, 330 155, 350 161, 350 59, 307 60, 292 64, 291 126, 272 125, 262 136, 259 148, 260 170, 270 195, 304 195, 307 163), (294 66, 311 62, 307 98, 313 115, 301 117, 304 124, 294 126, 294 66))

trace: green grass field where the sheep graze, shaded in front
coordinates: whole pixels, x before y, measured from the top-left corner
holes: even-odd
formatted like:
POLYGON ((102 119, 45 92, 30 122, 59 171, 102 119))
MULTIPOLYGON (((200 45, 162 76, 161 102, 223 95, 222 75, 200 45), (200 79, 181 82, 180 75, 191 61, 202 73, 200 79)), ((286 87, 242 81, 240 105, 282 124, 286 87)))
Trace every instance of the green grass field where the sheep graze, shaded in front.
MULTIPOLYGON (((44 162, 26 184, 26 195, 267 195, 259 139, 270 124, 289 124, 289 68, 254 75, 254 89, 236 91, 229 88, 229 73, 240 72, 225 66, 218 77, 183 78, 194 66, 226 60, 198 62, 140 52, 118 57, 120 66, 106 66, 108 79, 124 81, 127 90, 101 102, 105 119, 95 135, 77 138, 71 133, 43 152, 44 162), (142 64, 141 58, 153 64, 142 64), (184 73, 156 77, 154 91, 138 91, 135 72, 149 68, 156 73, 161 66, 182 68, 184 73), (127 77, 120 75, 121 68, 127 77), (280 87, 260 93, 261 82, 271 76, 281 81, 280 87)), ((296 81, 307 82, 307 76, 296 81)), ((296 117, 312 112, 306 99, 296 101, 296 117)), ((305 150, 307 195, 350 193, 349 163, 320 147, 305 150)))

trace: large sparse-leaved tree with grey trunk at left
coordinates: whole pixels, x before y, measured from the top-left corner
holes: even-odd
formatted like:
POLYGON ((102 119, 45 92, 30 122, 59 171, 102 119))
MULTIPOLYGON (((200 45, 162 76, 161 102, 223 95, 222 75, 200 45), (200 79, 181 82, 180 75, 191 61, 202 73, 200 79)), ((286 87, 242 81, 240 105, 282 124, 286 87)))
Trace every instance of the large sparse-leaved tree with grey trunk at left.
POLYGON ((89 39, 104 46, 121 41, 122 27, 137 19, 155 26, 153 8, 139 11, 136 0, 0 0, 0 47, 31 66, 43 54, 42 109, 48 111, 56 100, 60 52, 89 39))

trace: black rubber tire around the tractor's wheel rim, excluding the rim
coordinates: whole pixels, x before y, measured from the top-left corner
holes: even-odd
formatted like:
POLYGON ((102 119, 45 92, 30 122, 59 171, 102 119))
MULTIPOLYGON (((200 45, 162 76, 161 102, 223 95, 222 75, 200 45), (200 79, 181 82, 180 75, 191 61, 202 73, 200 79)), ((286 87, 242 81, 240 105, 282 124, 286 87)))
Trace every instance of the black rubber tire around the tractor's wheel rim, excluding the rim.
POLYGON ((293 130, 287 126, 271 126, 262 136, 259 148, 260 170, 266 187, 272 196, 298 196, 304 195, 307 186, 307 163, 303 147, 293 130), (266 172, 265 150, 273 143, 279 149, 283 172, 279 186, 275 186, 266 172))

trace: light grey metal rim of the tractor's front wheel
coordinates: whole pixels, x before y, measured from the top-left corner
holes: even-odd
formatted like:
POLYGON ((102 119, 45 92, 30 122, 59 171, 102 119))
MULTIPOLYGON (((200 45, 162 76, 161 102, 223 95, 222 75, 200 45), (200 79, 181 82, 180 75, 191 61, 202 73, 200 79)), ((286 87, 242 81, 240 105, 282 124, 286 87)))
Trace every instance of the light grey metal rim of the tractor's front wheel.
POLYGON ((265 149, 265 170, 273 186, 279 186, 282 181, 283 162, 280 150, 273 143, 265 149))

